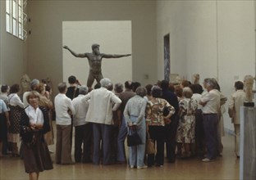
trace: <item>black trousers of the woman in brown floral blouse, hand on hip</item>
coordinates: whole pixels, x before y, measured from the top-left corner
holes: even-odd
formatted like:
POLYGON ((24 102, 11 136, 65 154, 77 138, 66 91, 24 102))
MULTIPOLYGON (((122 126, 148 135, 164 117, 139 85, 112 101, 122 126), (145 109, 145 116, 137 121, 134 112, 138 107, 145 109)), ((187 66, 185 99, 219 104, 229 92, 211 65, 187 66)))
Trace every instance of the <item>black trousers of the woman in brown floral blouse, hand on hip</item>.
POLYGON ((154 142, 157 142, 156 155, 148 155, 148 165, 153 164, 163 165, 164 162, 164 141, 165 133, 163 126, 149 126, 149 136, 154 142))

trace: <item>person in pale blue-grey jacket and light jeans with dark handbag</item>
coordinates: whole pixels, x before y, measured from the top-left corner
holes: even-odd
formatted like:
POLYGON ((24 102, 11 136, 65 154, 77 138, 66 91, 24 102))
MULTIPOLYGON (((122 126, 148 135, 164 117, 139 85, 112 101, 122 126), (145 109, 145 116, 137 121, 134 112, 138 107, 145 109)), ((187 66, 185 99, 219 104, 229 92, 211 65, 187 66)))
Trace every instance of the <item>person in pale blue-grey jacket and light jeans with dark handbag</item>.
POLYGON ((127 127, 130 128, 130 131, 132 131, 131 129, 133 128, 136 129, 142 143, 137 146, 129 147, 129 163, 130 169, 134 169, 135 166, 137 169, 145 169, 148 168, 148 166, 144 164, 146 142, 145 110, 147 106, 147 101, 144 99, 144 96, 147 94, 147 89, 139 87, 136 88, 135 93, 135 97, 131 97, 126 104, 124 116, 127 127))

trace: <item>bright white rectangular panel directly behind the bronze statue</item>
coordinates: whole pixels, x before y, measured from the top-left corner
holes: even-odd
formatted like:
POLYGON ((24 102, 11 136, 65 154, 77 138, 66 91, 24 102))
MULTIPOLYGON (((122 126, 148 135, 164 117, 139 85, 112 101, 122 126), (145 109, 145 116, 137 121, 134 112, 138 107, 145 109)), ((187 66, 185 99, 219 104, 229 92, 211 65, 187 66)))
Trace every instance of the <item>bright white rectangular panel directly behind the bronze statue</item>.
MULTIPOLYGON (((99 50, 104 54, 132 53, 130 20, 65 21, 62 27, 63 45, 67 45, 76 53, 92 52, 91 46, 94 43, 100 45, 99 50)), ((113 84, 132 79, 132 56, 103 58, 102 73, 103 77, 111 79, 113 84)), ((65 82, 71 74, 86 85, 89 62, 87 58, 75 57, 66 50, 63 51, 63 81, 65 82)))

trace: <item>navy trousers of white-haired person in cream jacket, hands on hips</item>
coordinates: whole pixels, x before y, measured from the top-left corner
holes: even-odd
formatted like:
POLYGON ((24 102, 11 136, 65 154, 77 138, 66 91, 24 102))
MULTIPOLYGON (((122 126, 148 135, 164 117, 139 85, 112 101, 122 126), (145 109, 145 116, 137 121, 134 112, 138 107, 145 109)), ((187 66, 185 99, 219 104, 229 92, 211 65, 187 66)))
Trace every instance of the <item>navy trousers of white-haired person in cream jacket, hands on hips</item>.
POLYGON ((99 164, 101 151, 100 142, 102 141, 103 146, 103 164, 112 164, 112 153, 111 153, 111 137, 112 137, 112 125, 108 124, 93 124, 94 131, 94 155, 93 163, 99 164))

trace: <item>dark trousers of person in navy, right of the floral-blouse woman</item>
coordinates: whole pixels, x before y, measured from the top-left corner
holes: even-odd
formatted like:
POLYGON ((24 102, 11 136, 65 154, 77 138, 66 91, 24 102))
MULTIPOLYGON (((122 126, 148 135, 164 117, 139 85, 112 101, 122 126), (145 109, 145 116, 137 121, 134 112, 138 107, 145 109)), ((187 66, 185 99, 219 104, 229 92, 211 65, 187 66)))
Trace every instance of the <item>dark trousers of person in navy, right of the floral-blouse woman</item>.
POLYGON ((167 159, 169 162, 176 160, 176 132, 178 127, 178 116, 171 119, 171 124, 166 124, 165 128, 165 142, 167 149, 167 159))

